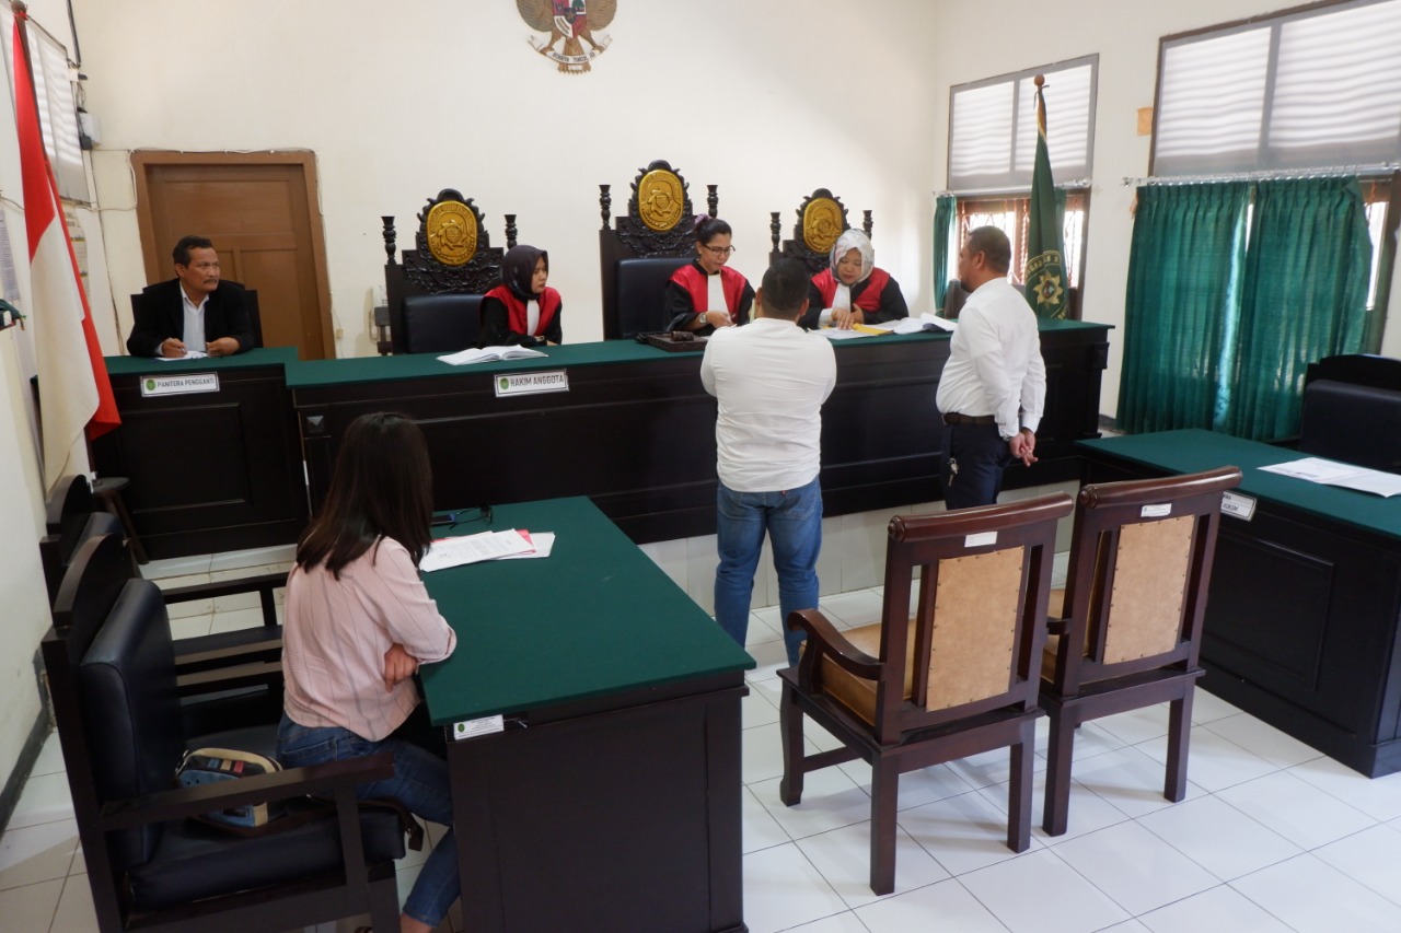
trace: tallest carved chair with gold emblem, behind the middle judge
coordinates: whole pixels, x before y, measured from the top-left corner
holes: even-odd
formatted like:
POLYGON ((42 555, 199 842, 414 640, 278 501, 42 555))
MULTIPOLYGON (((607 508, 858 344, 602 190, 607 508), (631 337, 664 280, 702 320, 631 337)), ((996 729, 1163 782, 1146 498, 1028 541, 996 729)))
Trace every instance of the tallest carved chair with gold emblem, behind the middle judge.
MULTIPOLYGON (((667 282, 695 255, 691 186, 664 160, 637 170, 628 213, 612 216, 609 185, 598 186, 604 227, 598 231, 604 339, 630 339, 665 326, 667 282), (611 223, 609 223, 611 221, 611 223)), ((712 217, 720 207, 716 185, 706 185, 712 217)))

